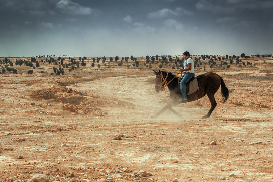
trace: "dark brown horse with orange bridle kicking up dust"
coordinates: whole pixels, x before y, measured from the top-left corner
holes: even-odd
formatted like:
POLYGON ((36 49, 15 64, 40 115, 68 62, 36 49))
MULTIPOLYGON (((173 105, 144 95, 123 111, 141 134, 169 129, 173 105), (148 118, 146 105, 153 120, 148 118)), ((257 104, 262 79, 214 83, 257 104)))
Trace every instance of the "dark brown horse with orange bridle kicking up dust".
MULTIPOLYGON (((151 116, 151 118, 156 118, 158 115, 160 115, 162 112, 169 109, 174 114, 181 116, 178 112, 173 110, 173 106, 176 106, 177 104, 183 103, 179 100, 179 97, 181 95, 181 92, 178 90, 178 77, 175 77, 174 74, 170 72, 165 71, 155 71, 156 73, 156 92, 159 93, 159 91, 162 91, 162 87, 167 83, 167 87, 170 91, 170 98, 171 102, 169 102, 165 107, 163 107, 158 113, 151 116), (162 76, 161 76, 162 74, 162 76), (164 80, 166 80, 166 82, 164 80), (161 86, 160 86, 161 85, 161 86)), ((202 75, 199 75, 196 77, 198 81, 198 87, 199 90, 196 92, 187 95, 188 102, 196 101, 205 95, 208 96, 210 102, 211 102, 211 109, 207 113, 207 115, 204 115, 202 119, 207 119, 210 117, 212 111, 217 106, 217 103, 215 101, 214 95, 217 92, 217 90, 220 88, 221 85, 221 94, 223 98, 223 103, 228 100, 229 92, 228 88, 226 87, 224 80, 217 75, 216 73, 207 72, 202 75)))

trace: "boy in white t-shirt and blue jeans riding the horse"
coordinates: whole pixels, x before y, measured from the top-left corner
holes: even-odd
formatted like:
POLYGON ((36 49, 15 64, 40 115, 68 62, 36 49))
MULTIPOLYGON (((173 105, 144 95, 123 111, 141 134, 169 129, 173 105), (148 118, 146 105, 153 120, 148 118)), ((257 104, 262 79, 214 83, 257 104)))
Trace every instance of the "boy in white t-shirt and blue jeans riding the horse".
POLYGON ((184 75, 180 78, 181 82, 179 84, 181 89, 181 97, 179 101, 187 101, 187 93, 186 93, 186 83, 194 76, 194 62, 190 58, 190 53, 188 51, 183 53, 183 57, 185 59, 183 67, 180 69, 180 72, 184 72, 184 75))

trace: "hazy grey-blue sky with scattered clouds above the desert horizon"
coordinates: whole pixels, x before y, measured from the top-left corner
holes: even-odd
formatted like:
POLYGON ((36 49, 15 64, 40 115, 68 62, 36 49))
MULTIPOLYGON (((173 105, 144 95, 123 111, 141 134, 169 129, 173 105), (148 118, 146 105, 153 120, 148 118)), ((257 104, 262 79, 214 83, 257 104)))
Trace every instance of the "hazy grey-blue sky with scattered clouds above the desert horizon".
POLYGON ((1 0, 0 57, 272 54, 272 0, 1 0))

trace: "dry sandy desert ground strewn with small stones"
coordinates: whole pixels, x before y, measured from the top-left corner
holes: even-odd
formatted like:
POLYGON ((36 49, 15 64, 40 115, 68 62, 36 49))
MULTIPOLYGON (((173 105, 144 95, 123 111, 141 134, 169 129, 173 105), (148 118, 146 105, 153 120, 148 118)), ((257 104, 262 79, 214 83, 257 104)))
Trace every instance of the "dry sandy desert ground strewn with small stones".
MULTIPOLYGON (((195 75, 215 72, 229 89, 225 103, 217 91, 208 119, 201 119, 207 96, 173 107, 183 118, 169 110, 150 118, 169 102, 169 91, 167 101, 155 90, 160 63, 150 69, 145 57, 137 59, 139 67, 130 59, 119 66, 121 58, 92 67, 88 57, 86 66, 56 75, 59 64, 36 58, 35 69, 14 65, 16 74, 0 74, 0 182, 38 174, 50 182, 273 181, 272 57, 225 69, 202 60, 195 75)), ((178 73, 172 65, 160 70, 178 73)))

